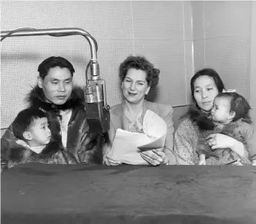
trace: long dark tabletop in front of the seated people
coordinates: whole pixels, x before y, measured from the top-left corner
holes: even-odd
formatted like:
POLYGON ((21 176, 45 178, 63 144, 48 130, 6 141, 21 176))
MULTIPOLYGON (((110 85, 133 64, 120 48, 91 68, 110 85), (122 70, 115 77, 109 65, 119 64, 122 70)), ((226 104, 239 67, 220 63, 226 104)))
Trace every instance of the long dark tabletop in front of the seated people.
POLYGON ((254 166, 43 165, 2 172, 2 223, 256 223, 254 166))

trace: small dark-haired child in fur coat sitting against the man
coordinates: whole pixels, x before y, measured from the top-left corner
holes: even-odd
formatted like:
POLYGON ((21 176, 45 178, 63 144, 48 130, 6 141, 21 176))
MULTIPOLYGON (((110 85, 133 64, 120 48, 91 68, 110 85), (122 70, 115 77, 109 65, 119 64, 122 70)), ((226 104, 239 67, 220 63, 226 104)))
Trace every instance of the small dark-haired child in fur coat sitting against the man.
POLYGON ((40 109, 24 109, 12 122, 17 141, 8 151, 8 168, 19 163, 66 163, 62 154, 62 145, 51 141, 45 112, 40 109))

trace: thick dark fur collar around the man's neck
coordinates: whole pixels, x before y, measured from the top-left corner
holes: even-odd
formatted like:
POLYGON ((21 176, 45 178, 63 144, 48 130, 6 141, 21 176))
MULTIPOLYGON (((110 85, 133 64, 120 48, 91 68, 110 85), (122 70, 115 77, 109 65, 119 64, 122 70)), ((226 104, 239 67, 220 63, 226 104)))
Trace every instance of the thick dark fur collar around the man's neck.
POLYGON ((29 106, 35 106, 45 111, 59 111, 66 109, 74 109, 78 106, 85 105, 85 98, 83 89, 76 86, 73 87, 72 93, 69 99, 63 105, 55 105, 53 103, 45 102, 45 95, 41 88, 36 85, 26 97, 26 101, 29 102, 29 106))

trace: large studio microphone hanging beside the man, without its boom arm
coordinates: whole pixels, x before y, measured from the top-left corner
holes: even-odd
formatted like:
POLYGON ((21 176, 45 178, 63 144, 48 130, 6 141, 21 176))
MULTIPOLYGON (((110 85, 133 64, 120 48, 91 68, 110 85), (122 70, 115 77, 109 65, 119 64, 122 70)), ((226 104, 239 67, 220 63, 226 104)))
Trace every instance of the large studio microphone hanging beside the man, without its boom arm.
POLYGON ((91 70, 91 79, 87 77, 84 94, 86 99, 86 119, 92 132, 105 133, 109 130, 110 113, 106 103, 106 82, 99 79, 99 64, 91 60, 88 64, 91 70))

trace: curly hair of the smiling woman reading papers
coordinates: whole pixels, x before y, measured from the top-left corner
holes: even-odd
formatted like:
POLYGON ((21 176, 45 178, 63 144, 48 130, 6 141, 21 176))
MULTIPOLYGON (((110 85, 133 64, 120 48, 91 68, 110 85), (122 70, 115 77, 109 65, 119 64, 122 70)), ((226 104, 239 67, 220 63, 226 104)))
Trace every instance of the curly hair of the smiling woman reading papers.
POLYGON ((146 80, 147 84, 150 86, 150 89, 153 89, 155 86, 157 86, 159 82, 160 70, 155 69, 153 64, 151 64, 143 56, 130 55, 120 64, 119 76, 121 82, 123 82, 123 80, 126 78, 126 74, 129 69, 137 69, 146 72, 146 80))

